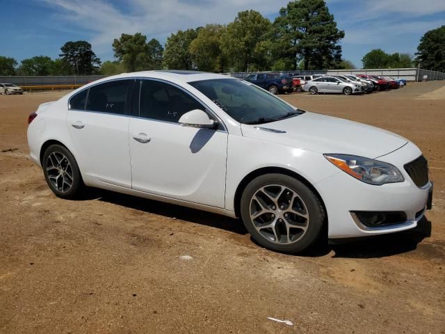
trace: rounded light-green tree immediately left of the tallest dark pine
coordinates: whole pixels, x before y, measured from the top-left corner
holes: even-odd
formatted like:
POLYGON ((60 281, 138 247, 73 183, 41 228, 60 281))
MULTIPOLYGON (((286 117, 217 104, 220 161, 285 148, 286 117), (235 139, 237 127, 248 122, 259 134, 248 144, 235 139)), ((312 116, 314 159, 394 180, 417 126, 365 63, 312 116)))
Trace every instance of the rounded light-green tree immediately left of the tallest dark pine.
POLYGON ((231 70, 266 70, 270 66, 264 51, 271 27, 270 21, 255 10, 238 13, 221 38, 221 49, 231 70))

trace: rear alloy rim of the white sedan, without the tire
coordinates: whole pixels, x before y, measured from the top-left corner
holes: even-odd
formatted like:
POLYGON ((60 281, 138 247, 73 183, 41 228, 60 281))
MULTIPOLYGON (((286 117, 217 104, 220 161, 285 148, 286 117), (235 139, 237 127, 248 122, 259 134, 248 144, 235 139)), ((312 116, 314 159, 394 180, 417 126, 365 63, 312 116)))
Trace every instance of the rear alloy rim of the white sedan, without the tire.
POLYGON ((49 182, 62 193, 70 191, 73 184, 73 170, 70 161, 63 153, 52 152, 47 159, 49 182))

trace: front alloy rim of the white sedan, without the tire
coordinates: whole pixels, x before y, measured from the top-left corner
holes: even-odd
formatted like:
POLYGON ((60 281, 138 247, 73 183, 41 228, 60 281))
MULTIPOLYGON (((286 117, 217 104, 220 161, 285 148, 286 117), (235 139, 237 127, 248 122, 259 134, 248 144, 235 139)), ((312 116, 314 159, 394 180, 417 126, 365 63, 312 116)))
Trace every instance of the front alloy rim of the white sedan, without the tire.
POLYGON ((295 244, 306 234, 309 212, 302 198, 289 187, 270 184, 250 200, 250 219, 262 237, 274 244, 295 244))

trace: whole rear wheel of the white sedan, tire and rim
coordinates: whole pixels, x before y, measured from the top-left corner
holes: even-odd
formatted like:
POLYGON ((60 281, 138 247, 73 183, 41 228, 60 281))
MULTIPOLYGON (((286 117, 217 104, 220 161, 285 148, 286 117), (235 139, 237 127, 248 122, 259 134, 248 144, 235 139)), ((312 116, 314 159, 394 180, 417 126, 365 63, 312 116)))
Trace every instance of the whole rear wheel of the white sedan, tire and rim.
POLYGON ((76 159, 62 145, 51 145, 42 160, 44 178, 56 196, 74 199, 83 189, 83 181, 76 159))

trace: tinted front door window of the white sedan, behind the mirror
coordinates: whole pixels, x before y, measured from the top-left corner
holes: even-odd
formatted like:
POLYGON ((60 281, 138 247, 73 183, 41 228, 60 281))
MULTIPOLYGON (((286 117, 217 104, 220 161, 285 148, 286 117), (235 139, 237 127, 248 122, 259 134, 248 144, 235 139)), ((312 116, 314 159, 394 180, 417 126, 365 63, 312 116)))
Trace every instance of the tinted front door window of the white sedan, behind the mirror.
POLYGON ((204 106, 183 90, 161 81, 143 80, 140 88, 140 117, 178 122, 184 113, 204 106))

